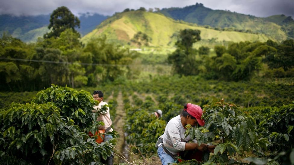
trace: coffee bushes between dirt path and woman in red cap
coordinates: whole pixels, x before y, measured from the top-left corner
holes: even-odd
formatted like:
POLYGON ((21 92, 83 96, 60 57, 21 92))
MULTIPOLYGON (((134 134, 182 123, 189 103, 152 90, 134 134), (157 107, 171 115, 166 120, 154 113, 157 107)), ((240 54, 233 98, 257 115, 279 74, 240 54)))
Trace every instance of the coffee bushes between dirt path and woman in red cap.
POLYGON ((127 95, 124 97, 124 108, 127 113, 125 123, 127 143, 135 145, 142 154, 149 157, 156 152, 154 142, 164 132, 166 122, 155 117, 155 103, 151 97, 146 97, 143 101, 133 94, 132 100, 131 103, 127 95))

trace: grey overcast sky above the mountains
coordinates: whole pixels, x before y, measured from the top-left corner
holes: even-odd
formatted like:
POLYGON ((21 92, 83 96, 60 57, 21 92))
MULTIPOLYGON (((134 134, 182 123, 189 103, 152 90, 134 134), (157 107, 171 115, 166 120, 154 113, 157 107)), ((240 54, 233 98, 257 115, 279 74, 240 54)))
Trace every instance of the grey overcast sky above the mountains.
POLYGON ((60 6, 66 6, 75 15, 90 12, 111 16, 125 8, 185 7, 196 2, 211 9, 227 9, 257 17, 276 14, 294 17, 294 0, 0 0, 0 14, 49 14, 60 6))

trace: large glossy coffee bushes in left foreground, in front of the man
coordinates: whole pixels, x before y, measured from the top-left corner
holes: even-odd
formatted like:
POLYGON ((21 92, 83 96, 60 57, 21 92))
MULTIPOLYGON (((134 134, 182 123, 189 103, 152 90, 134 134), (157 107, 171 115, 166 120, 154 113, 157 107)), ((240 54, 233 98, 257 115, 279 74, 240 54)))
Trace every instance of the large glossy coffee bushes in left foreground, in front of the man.
MULTIPOLYGON (((0 111, 0 161, 4 164, 100 164, 111 154, 115 139, 101 144, 95 132, 97 101, 89 92, 52 87, 32 102, 11 104, 0 111)), ((116 133, 111 133, 116 137, 116 133)))

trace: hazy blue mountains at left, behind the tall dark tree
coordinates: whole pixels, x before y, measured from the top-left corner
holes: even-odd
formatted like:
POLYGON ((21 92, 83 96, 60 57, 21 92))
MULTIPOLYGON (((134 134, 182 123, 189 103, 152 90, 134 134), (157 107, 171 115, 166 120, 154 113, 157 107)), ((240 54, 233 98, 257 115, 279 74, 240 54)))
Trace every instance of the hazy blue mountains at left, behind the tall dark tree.
MULTIPOLYGON (((86 35, 96 28, 107 16, 101 14, 83 13, 79 15, 81 35, 86 35)), ((0 34, 9 32, 13 37, 24 42, 36 42, 38 37, 49 31, 50 14, 37 16, 0 15, 0 34)))

